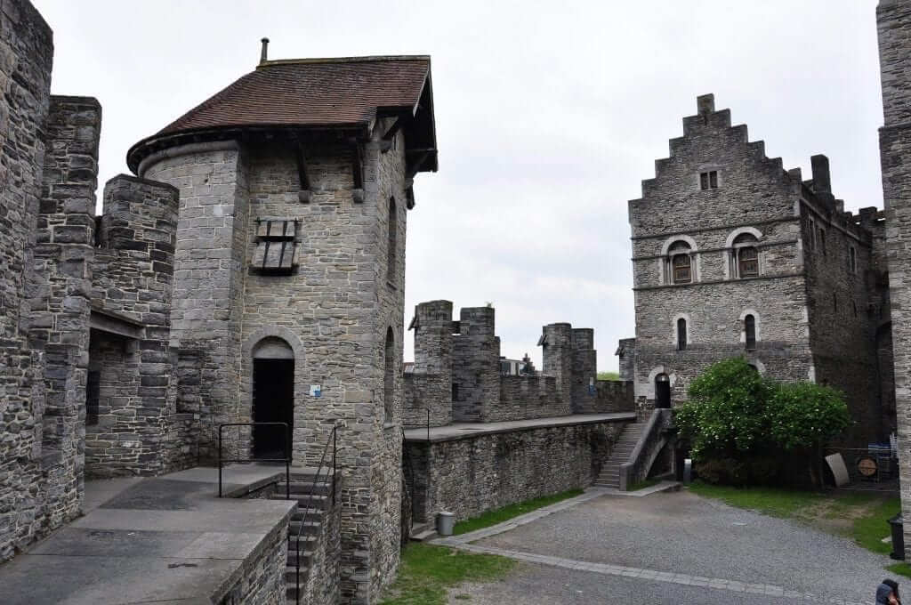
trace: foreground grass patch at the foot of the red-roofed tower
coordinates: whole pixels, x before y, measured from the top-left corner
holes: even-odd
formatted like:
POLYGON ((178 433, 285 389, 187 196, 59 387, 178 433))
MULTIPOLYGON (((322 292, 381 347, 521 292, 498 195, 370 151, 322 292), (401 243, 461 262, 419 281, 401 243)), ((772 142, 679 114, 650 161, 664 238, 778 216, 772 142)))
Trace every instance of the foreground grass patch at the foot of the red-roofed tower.
MULTIPOLYGON (((516 561, 476 555, 428 544, 409 544, 402 553, 398 579, 385 592, 382 605, 445 605, 446 590, 465 581, 505 576, 516 561)), ((456 599, 464 599, 456 595, 456 599)))

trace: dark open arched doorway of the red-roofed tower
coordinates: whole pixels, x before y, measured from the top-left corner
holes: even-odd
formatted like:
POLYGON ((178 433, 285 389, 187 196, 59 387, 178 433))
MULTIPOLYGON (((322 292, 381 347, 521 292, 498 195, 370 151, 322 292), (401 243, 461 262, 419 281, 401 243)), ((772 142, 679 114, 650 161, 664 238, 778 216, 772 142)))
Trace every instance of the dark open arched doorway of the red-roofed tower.
MULTIPOLYGON (((289 433, 294 427, 294 352, 277 336, 253 347, 253 422, 287 423, 289 433)), ((287 438, 281 426, 254 426, 253 457, 284 457, 287 438)))

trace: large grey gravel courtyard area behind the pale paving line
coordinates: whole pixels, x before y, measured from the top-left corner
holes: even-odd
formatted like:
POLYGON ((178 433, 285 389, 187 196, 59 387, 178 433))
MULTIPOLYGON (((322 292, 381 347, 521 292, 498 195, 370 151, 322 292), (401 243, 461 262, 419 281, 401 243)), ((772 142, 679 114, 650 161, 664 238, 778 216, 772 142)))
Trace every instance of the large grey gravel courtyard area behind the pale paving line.
MULTIPOLYGON (((887 533, 884 523, 883 535, 887 533)), ((599 497, 476 544, 772 584, 844 600, 869 600, 879 582, 890 575, 884 567, 892 562, 861 549, 847 538, 728 507, 687 491, 642 498, 599 497)), ((626 579, 599 578, 611 586, 617 582, 628 584, 626 579)), ((636 582, 630 585, 635 586, 636 582)), ((730 599, 731 593, 726 594, 730 599)))

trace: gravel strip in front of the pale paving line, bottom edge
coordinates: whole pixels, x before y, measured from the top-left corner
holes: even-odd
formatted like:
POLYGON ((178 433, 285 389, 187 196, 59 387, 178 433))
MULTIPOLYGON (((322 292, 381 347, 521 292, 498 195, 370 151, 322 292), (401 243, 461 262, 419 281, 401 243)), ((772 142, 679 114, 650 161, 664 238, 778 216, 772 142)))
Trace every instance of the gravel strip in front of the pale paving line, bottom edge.
POLYGON ((450 590, 448 602, 449 605, 784 605, 793 600, 523 563, 507 579, 463 584, 450 590))

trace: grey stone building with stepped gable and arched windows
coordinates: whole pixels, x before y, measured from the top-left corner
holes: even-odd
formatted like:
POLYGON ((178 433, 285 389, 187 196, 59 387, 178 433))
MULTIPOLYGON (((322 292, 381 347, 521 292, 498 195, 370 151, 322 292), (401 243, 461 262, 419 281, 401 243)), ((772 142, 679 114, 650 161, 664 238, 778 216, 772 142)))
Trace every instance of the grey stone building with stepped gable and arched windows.
POLYGON ((847 438, 885 438, 895 408, 882 213, 845 212, 824 156, 805 180, 711 95, 697 105, 630 200, 636 339, 618 354, 626 373, 635 360, 640 406, 670 406, 706 366, 745 355, 762 374, 842 389, 847 438))

